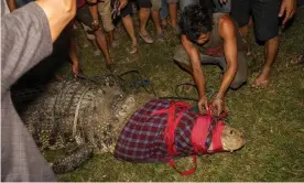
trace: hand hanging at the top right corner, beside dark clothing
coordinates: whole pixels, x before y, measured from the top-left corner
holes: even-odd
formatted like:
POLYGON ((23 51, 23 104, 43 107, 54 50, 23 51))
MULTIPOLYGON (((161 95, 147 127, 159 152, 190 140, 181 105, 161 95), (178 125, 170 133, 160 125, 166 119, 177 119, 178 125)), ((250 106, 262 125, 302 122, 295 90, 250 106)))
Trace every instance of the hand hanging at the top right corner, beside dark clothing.
POLYGON ((282 0, 279 17, 282 18, 285 14, 283 25, 294 15, 295 9, 296 0, 282 0))

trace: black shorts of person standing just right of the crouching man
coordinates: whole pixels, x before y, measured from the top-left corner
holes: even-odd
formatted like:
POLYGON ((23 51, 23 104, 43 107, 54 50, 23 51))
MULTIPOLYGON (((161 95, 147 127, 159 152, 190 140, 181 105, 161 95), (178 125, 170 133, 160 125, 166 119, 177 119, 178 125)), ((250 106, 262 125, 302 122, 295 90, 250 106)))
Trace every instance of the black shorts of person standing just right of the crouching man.
POLYGON ((242 28, 253 18, 256 37, 268 41, 279 34, 279 12, 281 0, 232 0, 231 17, 242 28))

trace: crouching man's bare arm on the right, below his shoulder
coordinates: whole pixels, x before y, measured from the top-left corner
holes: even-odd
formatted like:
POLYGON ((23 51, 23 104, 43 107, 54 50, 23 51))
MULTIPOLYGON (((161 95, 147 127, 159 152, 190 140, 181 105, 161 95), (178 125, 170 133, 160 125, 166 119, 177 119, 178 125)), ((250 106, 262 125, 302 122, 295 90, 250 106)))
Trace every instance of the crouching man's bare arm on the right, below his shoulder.
POLYGON ((217 94, 217 98, 224 99, 227 89, 232 83, 238 68, 238 45, 237 45, 237 28, 228 15, 220 20, 219 35, 224 40, 224 53, 227 62, 227 69, 222 76, 222 80, 217 94))

